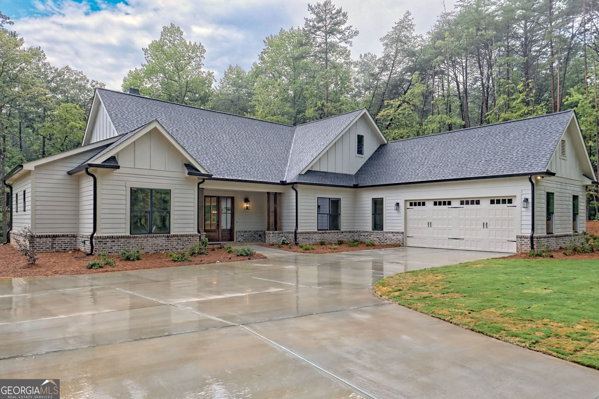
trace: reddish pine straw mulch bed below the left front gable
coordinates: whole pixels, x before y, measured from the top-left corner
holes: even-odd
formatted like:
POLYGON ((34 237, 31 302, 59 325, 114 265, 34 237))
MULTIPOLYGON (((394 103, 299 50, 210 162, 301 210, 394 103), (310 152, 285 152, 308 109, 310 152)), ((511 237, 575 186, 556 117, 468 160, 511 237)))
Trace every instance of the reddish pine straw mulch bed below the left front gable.
MULTIPOLYGON (((122 260, 118 254, 110 255, 117 260, 114 267, 103 267, 101 269, 86 269, 85 265, 98 256, 78 258, 85 255, 81 251, 40 252, 40 257, 35 264, 27 264, 25 258, 12 245, 0 246, 0 278, 11 277, 36 277, 36 276, 60 276, 60 275, 82 275, 91 273, 122 272, 125 270, 156 269, 158 267, 172 267, 185 265, 201 265, 217 262, 234 262, 247 260, 247 257, 238 257, 235 254, 227 254, 226 249, 210 251, 208 255, 198 255, 186 262, 175 262, 165 256, 164 253, 142 254, 141 260, 122 260)), ((256 253, 252 259, 265 259, 262 254, 256 253)))

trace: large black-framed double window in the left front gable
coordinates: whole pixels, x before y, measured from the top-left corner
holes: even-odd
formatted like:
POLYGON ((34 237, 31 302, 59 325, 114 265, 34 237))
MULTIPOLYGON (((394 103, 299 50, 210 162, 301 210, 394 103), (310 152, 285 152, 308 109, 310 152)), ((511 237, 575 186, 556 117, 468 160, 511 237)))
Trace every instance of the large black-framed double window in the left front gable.
POLYGON ((171 190, 131 188, 131 234, 170 232, 171 190))

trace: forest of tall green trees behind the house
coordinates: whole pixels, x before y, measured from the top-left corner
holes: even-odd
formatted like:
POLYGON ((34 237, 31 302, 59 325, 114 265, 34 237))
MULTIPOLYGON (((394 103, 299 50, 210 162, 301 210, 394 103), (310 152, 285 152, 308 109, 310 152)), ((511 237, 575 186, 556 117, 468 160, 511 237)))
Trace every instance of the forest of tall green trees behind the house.
MULTIPOLYGON (((0 13, 0 174, 79 145, 93 88, 104 86, 50 65, 11 25, 0 13)), ((216 83, 204 46, 171 24, 122 87, 294 125, 365 107, 390 140, 575 109, 597 168, 598 1, 461 0, 426 35, 406 12, 380 38, 382 53, 352 58, 358 35, 331 1, 308 5, 304 26, 268 36, 249 71, 231 65, 216 83)), ((596 188, 587 200, 599 217, 596 188)))

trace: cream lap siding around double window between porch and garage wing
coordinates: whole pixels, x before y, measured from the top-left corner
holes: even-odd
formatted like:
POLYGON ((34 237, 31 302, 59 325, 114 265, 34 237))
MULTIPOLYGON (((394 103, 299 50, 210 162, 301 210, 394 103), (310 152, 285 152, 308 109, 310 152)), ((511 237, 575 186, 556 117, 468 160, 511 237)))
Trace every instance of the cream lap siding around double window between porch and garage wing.
MULTIPOLYGON (((352 188, 299 185, 299 229, 317 230, 317 198, 341 200, 341 230, 355 229, 355 191, 352 188)), ((295 218, 295 215, 294 215, 295 218)))

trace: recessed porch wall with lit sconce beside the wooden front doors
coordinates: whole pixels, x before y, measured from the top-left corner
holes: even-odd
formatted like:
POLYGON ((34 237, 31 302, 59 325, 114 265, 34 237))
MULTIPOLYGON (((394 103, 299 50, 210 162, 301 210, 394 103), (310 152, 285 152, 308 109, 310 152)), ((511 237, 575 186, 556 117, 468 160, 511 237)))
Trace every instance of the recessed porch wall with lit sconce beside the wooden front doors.
POLYGON ((204 196, 233 197, 235 230, 267 229, 267 193, 260 191, 205 189, 204 196), (244 209, 243 202, 246 197, 250 200, 250 209, 244 209))

